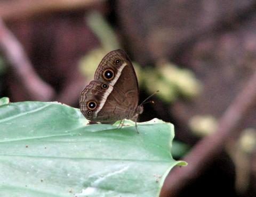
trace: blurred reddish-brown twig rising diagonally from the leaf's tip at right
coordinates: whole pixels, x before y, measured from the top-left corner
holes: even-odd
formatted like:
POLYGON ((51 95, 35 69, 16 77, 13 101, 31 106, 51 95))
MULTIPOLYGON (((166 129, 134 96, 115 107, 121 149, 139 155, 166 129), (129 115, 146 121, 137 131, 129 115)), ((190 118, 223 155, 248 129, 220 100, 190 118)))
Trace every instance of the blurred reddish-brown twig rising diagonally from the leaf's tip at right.
POLYGON ((211 159, 221 152, 227 138, 234 133, 246 113, 255 105, 255 101, 256 70, 243 91, 238 94, 223 114, 217 131, 203 138, 183 158, 188 162, 188 166, 175 168, 170 172, 165 180, 161 196, 176 196, 183 186, 199 176, 209 166, 211 159))

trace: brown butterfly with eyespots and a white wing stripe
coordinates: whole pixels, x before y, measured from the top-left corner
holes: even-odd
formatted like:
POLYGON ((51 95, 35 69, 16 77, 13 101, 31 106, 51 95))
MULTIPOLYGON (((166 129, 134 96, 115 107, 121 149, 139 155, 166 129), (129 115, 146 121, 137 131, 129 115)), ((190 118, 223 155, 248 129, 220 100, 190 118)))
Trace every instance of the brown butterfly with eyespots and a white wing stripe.
MULTIPOLYGON (((94 80, 80 95, 80 109, 92 122, 113 124, 117 120, 135 121, 143 112, 132 62, 122 50, 109 52, 100 62, 94 80)), ((138 132, 138 129, 137 129, 138 132)))

